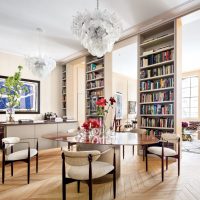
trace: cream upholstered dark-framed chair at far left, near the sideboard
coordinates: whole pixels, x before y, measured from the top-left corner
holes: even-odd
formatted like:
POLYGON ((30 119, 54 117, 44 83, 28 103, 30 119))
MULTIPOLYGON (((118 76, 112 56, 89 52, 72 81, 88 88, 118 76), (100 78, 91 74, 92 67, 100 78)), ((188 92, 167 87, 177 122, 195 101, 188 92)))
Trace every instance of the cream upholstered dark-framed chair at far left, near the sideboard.
POLYGON ((17 161, 24 161, 28 164, 27 182, 30 182, 30 160, 36 156, 36 173, 38 172, 38 139, 37 138, 24 138, 7 137, 2 139, 2 183, 5 180, 5 166, 11 164, 11 176, 13 176, 13 163, 17 161), (36 148, 30 148, 30 143, 26 140, 36 140, 36 148), (15 145, 27 145, 24 150, 14 152, 15 145), (8 153, 10 150, 10 153, 8 153))

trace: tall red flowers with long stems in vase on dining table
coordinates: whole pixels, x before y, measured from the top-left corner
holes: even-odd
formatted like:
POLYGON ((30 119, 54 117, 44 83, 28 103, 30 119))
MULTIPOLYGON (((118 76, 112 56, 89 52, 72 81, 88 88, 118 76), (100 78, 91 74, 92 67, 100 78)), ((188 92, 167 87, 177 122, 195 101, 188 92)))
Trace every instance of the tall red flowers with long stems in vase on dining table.
MULTIPOLYGON (((114 97, 110 97, 109 101, 107 101, 105 98, 101 98, 96 102, 97 105, 97 115, 103 116, 103 122, 100 124, 102 127, 103 135, 106 133, 106 119, 107 115, 109 113, 110 109, 113 109, 114 104, 116 103, 116 100, 114 97)), ((112 128, 112 127, 111 127, 112 128)))

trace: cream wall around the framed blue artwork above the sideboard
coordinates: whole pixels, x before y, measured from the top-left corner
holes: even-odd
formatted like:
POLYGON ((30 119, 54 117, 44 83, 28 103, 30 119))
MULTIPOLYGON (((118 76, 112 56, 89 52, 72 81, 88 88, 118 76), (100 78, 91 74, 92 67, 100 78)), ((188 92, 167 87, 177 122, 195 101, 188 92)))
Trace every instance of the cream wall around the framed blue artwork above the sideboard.
MULTIPOLYGON (((55 112, 61 115, 61 67, 57 66, 46 78, 39 79, 25 66, 24 57, 0 53, 0 75, 10 76, 17 71, 17 66, 22 65, 22 78, 40 80, 40 113, 41 114, 16 114, 17 119, 41 119, 45 112, 55 112)), ((0 120, 5 120, 5 115, 0 114, 0 120)))

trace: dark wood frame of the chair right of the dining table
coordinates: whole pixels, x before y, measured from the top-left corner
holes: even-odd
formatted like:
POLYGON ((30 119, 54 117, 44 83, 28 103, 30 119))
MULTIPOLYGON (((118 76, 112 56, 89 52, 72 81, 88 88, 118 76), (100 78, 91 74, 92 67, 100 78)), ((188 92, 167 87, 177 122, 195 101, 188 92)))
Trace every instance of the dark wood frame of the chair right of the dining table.
POLYGON ((178 176, 180 176, 180 138, 178 139, 178 154, 176 154, 174 156, 165 156, 164 155, 164 147, 170 148, 170 144, 172 144, 172 143, 170 143, 168 141, 160 140, 159 144, 162 147, 162 155, 161 156, 149 152, 148 151, 148 145, 145 145, 146 171, 148 172, 148 154, 153 154, 153 155, 158 156, 161 159, 161 177, 162 177, 162 182, 164 181, 164 158, 166 158, 166 170, 168 170, 168 158, 171 157, 171 158, 175 158, 175 159, 178 160, 178 176))

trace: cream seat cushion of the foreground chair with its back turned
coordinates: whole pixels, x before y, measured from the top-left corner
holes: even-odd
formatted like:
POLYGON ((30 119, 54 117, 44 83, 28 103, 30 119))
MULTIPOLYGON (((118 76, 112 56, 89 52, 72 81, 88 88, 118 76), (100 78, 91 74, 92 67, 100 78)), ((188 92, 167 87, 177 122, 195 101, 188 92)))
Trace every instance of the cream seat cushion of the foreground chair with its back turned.
MULTIPOLYGON (((114 169, 114 166, 106 163, 95 161, 92 162, 92 179, 102 177, 114 169)), ((75 180, 89 179, 89 165, 83 166, 67 166, 66 176, 75 180)))

